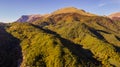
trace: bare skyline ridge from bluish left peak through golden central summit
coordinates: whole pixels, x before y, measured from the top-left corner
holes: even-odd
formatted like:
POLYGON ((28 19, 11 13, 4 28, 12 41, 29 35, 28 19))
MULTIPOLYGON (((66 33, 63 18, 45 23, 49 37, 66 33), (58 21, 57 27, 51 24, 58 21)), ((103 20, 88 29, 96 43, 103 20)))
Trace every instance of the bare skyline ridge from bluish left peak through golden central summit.
MULTIPOLYGON (((59 10, 56 10, 52 12, 51 14, 45 14, 45 15, 23 15, 21 18, 19 18, 16 22, 29 22, 32 23, 37 20, 42 20, 42 18, 47 18, 52 15, 57 15, 57 14, 62 14, 62 13, 78 13, 80 15, 86 15, 86 16, 97 16, 92 13, 88 13, 82 9, 77 9, 74 7, 66 7, 66 8, 61 8, 59 10)), ((43 19, 44 19, 43 18, 43 19)))

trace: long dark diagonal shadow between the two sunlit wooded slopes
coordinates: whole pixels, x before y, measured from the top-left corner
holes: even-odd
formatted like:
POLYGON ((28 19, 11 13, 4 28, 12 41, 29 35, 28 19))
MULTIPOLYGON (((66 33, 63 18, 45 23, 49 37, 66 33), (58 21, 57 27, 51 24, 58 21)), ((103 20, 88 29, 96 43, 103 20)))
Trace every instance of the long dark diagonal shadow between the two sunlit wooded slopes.
MULTIPOLYGON (((51 30, 43 29, 36 25, 33 25, 33 26, 36 28, 42 29, 44 32, 46 32, 48 34, 54 34, 57 38, 59 38, 61 43, 63 44, 63 46, 68 48, 72 52, 72 54, 74 54, 75 56, 78 57, 77 60, 79 63, 92 62, 95 65, 98 65, 98 66, 101 65, 101 62, 99 62, 95 58, 93 58, 93 53, 88 49, 82 48, 82 46, 80 44, 75 44, 70 40, 62 38, 59 34, 57 34, 56 32, 53 32, 51 30)), ((85 63, 83 63, 83 64, 85 64, 85 63)), ((91 65, 91 64, 85 64, 85 65, 91 65)))

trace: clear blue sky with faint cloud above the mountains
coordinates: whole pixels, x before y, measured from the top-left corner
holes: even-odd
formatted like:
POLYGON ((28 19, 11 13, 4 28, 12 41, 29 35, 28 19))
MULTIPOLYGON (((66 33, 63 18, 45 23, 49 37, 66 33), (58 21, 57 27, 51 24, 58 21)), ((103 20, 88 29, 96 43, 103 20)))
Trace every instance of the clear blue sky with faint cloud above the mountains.
POLYGON ((109 15, 120 12, 120 0, 0 0, 0 22, 13 22, 22 15, 48 14, 64 7, 109 15))

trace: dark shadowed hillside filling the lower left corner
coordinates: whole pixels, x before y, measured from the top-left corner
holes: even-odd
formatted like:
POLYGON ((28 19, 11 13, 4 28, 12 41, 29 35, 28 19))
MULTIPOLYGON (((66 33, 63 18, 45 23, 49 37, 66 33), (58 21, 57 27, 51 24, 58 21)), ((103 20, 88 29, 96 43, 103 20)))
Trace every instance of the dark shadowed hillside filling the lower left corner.
POLYGON ((19 67, 22 62, 20 41, 0 27, 0 67, 19 67))

